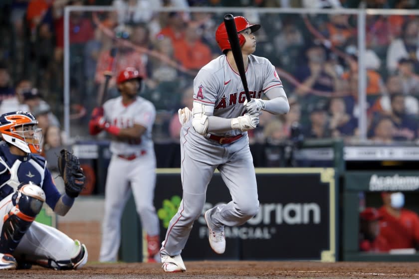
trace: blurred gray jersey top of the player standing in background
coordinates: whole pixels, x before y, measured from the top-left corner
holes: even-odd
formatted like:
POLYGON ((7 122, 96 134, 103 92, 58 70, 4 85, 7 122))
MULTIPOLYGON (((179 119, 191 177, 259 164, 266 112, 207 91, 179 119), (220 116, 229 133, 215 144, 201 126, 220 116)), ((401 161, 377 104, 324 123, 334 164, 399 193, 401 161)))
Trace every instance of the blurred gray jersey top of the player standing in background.
POLYGON ((152 140, 152 128, 156 119, 154 105, 142 98, 137 99, 125 106, 122 104, 122 97, 110 99, 103 104, 104 117, 111 124, 118 128, 133 127, 134 124, 144 126, 147 131, 141 139, 116 140, 110 144, 110 150, 118 155, 130 155, 142 151, 154 152, 152 140))

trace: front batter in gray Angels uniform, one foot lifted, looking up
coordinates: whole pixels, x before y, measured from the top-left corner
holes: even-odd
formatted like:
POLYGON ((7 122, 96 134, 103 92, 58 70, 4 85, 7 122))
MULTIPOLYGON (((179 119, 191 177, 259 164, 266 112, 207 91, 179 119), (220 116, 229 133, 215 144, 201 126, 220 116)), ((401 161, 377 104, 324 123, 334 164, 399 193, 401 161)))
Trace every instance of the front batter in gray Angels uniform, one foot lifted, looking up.
POLYGON ((184 272, 181 258, 192 225, 202 214, 206 190, 215 169, 228 187, 232 201, 205 212, 209 241, 215 253, 225 250, 224 226, 238 226, 259 208, 256 175, 247 132, 257 127, 262 111, 285 114, 289 104, 274 66, 252 55, 259 24, 234 17, 252 100, 246 102, 224 23, 215 33, 224 55, 204 66, 194 80, 194 106, 179 111, 183 199, 172 218, 160 250, 165 272, 184 272), (261 97, 269 100, 261 100, 261 97))

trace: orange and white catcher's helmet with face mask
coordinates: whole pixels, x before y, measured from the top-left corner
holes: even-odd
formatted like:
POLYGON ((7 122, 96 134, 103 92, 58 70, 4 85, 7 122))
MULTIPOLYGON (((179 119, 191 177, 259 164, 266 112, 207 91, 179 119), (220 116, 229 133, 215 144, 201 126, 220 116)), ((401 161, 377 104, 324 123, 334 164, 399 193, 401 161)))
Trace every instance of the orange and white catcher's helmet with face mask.
POLYGON ((26 153, 42 150, 42 129, 38 121, 28 112, 11 112, 0 116, 0 134, 4 141, 26 153))

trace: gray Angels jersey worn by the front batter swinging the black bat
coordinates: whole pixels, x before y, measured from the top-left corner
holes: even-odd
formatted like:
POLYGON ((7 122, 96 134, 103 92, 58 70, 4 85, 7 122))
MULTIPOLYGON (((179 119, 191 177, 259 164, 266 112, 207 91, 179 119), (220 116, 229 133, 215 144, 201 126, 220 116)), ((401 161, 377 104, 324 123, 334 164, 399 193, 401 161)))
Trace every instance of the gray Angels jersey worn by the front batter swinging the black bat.
MULTIPOLYGON (((282 87, 275 67, 266 58, 249 55, 245 71, 251 98, 261 98, 269 89, 282 87)), ((240 75, 231 68, 226 55, 221 55, 205 65, 194 79, 194 102, 213 106, 214 116, 242 116, 246 111, 243 106, 245 100, 246 94, 240 75)))

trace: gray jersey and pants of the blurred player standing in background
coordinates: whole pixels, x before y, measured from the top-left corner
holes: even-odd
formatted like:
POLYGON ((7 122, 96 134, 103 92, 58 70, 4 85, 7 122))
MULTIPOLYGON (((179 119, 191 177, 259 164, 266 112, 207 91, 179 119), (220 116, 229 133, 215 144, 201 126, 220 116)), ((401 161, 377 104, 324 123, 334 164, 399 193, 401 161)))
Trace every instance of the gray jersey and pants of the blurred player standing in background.
POLYGON ((122 104, 122 97, 117 97, 108 100, 103 109, 104 117, 112 125, 128 128, 139 124, 147 128, 139 140, 112 140, 110 145, 113 155, 106 176, 99 261, 114 262, 117 260, 120 245, 120 218, 131 191, 143 229, 150 236, 160 233, 159 219, 153 205, 156 157, 151 133, 156 109, 151 102, 142 97, 137 97, 137 100, 128 106, 122 104))

